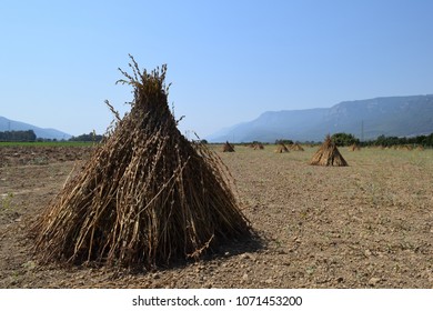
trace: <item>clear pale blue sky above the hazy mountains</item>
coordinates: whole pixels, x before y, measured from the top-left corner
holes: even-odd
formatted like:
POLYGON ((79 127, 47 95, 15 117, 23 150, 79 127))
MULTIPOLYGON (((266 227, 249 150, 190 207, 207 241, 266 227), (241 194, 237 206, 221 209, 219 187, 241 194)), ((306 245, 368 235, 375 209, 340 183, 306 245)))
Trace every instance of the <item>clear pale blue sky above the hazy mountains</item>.
POLYGON ((0 116, 102 133, 128 53, 168 64, 181 131, 268 110, 433 93, 433 1, 0 1, 0 116))

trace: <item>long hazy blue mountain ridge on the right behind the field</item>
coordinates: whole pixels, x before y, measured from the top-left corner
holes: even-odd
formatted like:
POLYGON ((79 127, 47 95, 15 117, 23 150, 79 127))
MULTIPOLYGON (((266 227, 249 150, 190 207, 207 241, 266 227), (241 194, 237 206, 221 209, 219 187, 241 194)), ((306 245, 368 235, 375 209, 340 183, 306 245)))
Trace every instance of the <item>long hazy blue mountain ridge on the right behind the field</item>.
POLYGON ((210 142, 276 139, 322 141, 330 133, 358 138, 410 137, 433 132, 433 94, 344 101, 331 108, 268 111, 251 122, 221 130, 210 142))

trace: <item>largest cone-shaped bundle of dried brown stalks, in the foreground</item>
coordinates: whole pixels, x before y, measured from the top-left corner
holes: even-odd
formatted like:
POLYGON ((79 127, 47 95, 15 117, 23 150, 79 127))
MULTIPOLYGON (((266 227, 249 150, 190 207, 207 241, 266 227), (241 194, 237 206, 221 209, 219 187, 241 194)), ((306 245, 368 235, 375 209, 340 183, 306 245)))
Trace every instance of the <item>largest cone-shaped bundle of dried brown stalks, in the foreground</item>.
POLYGON ((167 67, 141 72, 131 59, 130 113, 37 219, 43 261, 151 269, 250 235, 221 159, 177 128, 167 67))

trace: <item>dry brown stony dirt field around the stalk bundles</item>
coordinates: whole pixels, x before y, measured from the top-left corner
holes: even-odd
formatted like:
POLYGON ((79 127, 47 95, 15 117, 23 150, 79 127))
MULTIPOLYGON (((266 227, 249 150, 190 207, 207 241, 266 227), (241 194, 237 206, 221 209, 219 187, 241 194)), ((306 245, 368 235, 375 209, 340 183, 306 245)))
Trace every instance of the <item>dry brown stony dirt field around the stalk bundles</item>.
POLYGON ((222 153, 259 239, 151 272, 41 265, 32 219, 89 149, 0 148, 0 288, 433 288, 433 150, 222 153))

